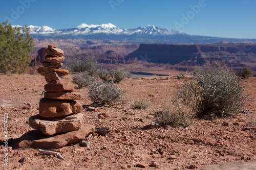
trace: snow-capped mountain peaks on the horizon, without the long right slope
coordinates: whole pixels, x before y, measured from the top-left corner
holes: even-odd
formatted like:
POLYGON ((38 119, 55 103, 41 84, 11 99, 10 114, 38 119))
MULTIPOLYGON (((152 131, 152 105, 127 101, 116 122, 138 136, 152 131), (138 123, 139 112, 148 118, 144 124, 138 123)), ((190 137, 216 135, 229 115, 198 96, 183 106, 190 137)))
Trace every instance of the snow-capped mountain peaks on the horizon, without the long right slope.
MULTIPOLYGON (((13 26, 13 27, 20 27, 22 26, 13 26)), ((105 35, 124 35, 124 36, 131 36, 131 35, 143 35, 143 36, 163 36, 163 35, 185 35, 183 32, 178 32, 172 29, 162 29, 157 26, 145 26, 145 27, 138 27, 136 29, 120 29, 113 25, 112 23, 106 23, 102 25, 87 25, 86 23, 82 23, 81 25, 77 26, 76 28, 71 29, 52 29, 48 26, 38 27, 38 26, 28 26, 30 28, 30 34, 32 36, 53 36, 53 37, 81 37, 87 35, 97 35, 97 34, 105 34, 105 35)))

